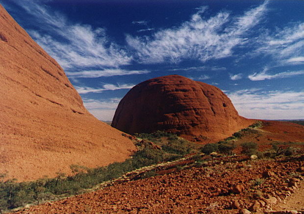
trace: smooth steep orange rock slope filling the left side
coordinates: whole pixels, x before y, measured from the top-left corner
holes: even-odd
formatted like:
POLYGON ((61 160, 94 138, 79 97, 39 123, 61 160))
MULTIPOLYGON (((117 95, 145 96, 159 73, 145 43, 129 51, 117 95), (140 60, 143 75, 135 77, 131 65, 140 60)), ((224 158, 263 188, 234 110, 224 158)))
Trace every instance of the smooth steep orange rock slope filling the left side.
POLYGON ((64 71, 0 5, 0 173, 31 180, 124 161, 133 143, 94 118, 64 71))

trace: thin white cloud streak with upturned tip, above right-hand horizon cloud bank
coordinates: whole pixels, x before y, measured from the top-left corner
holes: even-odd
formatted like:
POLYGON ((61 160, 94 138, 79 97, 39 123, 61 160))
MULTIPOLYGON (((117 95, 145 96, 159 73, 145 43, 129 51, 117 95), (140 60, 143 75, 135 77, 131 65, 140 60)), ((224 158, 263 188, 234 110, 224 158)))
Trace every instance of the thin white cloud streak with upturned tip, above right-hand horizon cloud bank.
POLYGON ((279 72, 276 74, 267 74, 266 71, 268 71, 267 68, 265 68, 260 73, 253 73, 248 76, 248 78, 252 81, 258 81, 258 80, 265 80, 265 79, 277 79, 277 78, 287 78, 292 77, 296 75, 304 75, 304 71, 286 71, 286 72, 279 72))

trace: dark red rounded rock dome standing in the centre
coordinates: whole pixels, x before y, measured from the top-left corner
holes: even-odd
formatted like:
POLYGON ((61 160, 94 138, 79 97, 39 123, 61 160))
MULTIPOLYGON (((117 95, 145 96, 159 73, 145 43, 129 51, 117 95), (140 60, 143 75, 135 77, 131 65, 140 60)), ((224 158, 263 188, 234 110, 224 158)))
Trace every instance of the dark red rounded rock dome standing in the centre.
POLYGON ((217 87, 169 75, 133 87, 120 101, 111 125, 129 134, 164 130, 218 140, 251 123, 217 87))

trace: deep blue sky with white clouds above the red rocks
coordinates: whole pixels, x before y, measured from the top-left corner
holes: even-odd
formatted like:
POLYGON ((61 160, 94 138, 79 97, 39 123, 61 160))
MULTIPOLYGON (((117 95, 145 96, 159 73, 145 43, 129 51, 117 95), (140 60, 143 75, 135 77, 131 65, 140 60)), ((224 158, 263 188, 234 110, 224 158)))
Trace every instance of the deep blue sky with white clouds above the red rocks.
POLYGON ((303 0, 0 0, 96 118, 136 84, 178 74, 239 115, 304 119, 303 0))

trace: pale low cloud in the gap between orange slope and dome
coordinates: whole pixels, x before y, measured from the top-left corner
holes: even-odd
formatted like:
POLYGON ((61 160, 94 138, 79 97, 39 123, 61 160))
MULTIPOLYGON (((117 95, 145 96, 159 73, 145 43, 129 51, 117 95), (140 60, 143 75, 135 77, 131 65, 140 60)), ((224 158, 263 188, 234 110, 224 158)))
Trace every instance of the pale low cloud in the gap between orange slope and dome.
POLYGON ((111 121, 120 100, 117 97, 106 100, 83 99, 83 104, 97 119, 111 121))

